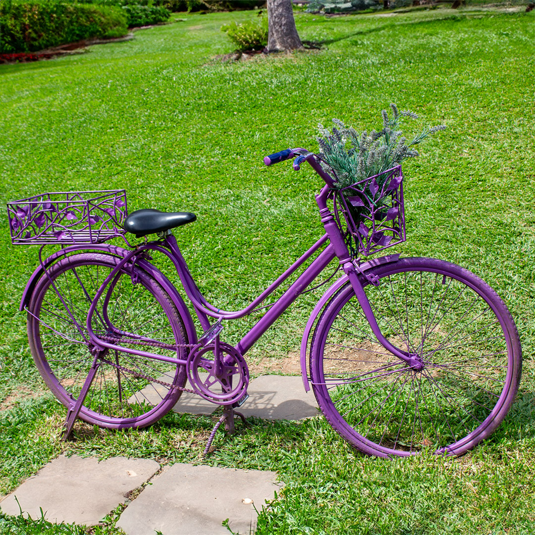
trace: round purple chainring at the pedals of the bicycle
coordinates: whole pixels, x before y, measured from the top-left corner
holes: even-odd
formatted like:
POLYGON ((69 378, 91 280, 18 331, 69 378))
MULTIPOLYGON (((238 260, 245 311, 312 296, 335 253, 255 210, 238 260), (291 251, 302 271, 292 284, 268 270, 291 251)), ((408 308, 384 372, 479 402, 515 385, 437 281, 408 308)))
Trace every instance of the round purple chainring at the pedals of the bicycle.
POLYGON ((249 385, 249 370, 245 359, 235 347, 219 343, 223 357, 220 377, 216 376, 213 344, 198 345, 190 352, 186 371, 194 392, 205 400, 219 405, 232 405, 242 400, 249 385), (208 376, 205 374, 208 373, 208 376))

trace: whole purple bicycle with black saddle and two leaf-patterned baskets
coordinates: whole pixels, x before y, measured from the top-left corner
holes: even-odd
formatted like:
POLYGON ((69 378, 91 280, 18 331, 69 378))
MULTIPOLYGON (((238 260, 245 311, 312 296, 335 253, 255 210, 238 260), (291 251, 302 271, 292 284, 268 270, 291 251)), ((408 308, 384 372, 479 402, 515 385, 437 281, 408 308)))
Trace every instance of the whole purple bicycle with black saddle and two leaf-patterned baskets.
POLYGON ((499 426, 522 370, 518 332, 500 297, 449 262, 366 259, 405 240, 401 166, 336 190, 305 149, 264 162, 290 158, 325 181, 316 195, 325 235, 240 311, 210 304, 188 270, 172 230, 194 221, 192 213, 128 215, 124 190, 8 204, 12 242, 42 244, 20 309, 37 368, 67 408, 66 435, 77 417, 111 429, 148 426, 184 391, 223 407, 213 433, 221 423, 233 430, 234 410, 247 398, 244 355, 336 258, 340 277, 311 312, 301 343, 304 388, 331 426, 381 457, 461 455, 499 426), (144 241, 130 246, 130 234, 144 241), (118 236, 129 247, 106 243, 118 236), (47 243, 61 249, 43 259, 47 243), (174 264, 188 305, 150 262, 156 253, 174 264), (261 308, 303 265, 237 345, 221 339, 227 320, 261 308))

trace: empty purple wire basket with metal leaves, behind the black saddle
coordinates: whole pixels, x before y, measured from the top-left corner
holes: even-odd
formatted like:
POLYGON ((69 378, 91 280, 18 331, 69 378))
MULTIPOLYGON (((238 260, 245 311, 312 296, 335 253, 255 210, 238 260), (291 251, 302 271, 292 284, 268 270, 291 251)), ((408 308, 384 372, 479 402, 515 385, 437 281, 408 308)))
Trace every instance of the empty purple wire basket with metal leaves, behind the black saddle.
POLYGON ((7 203, 11 243, 100 243, 125 231, 124 189, 43 193, 7 203))

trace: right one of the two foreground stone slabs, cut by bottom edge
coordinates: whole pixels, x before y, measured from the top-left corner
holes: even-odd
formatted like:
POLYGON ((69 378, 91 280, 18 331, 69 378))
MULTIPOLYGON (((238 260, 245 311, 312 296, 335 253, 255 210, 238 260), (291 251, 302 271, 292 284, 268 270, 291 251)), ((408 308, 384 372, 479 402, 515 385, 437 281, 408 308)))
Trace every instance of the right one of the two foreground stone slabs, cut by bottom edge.
POLYGON ((221 525, 228 518, 234 533, 254 533, 254 506, 262 510, 274 498, 281 486, 276 481, 275 472, 173 464, 128 505, 116 526, 127 535, 228 535, 221 525))

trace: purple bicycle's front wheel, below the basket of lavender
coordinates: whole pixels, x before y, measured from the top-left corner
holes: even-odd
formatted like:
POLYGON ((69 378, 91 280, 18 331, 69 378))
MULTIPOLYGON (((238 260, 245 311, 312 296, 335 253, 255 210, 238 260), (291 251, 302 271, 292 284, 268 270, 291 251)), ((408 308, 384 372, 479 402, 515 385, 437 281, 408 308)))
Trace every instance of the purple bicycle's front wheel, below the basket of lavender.
POLYGON ((518 390, 522 352, 513 318, 490 286, 449 262, 403 258, 373 273, 379 286, 361 282, 381 332, 419 355, 423 369, 381 346, 348 282, 312 338, 319 407, 366 454, 467 452, 498 427, 518 390))

